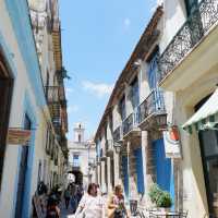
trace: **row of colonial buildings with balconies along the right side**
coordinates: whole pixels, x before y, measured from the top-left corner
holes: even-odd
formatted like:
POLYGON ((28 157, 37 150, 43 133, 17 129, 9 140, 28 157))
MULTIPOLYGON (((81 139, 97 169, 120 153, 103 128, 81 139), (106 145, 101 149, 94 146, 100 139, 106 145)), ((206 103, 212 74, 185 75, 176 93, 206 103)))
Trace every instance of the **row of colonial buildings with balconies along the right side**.
POLYGON ((218 80, 217 7, 216 0, 164 0, 154 13, 95 136, 97 180, 108 192, 120 183, 128 199, 148 206, 156 182, 189 217, 217 214, 217 113, 202 114, 208 99, 206 111, 213 108, 218 80), (171 126, 180 130, 174 158, 166 156, 162 136, 171 126))

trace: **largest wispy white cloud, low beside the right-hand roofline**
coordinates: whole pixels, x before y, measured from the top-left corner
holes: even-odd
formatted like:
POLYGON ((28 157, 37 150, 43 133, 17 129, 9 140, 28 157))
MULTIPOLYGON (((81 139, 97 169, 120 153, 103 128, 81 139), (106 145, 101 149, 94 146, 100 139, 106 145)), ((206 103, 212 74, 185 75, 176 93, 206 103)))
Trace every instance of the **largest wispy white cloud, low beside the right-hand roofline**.
POLYGON ((113 85, 106 83, 93 83, 90 81, 83 81, 82 85, 85 90, 90 90, 98 98, 102 98, 104 96, 109 95, 113 88, 113 85))

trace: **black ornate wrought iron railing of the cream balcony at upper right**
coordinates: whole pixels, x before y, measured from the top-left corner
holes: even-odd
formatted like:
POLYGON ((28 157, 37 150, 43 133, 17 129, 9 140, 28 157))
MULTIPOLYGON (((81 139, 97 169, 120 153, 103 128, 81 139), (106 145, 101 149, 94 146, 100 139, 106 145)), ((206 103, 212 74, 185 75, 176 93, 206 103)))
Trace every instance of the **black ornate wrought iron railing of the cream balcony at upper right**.
POLYGON ((202 0, 159 59, 161 82, 218 21, 218 0, 202 0))

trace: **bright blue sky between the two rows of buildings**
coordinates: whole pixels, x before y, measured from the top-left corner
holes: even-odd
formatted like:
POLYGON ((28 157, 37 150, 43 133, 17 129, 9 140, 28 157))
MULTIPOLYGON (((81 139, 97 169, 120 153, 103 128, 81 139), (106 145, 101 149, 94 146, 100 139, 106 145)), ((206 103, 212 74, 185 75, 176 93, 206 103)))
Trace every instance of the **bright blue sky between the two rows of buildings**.
POLYGON ((60 0, 69 140, 76 122, 94 135, 111 88, 149 21, 156 0, 60 0))

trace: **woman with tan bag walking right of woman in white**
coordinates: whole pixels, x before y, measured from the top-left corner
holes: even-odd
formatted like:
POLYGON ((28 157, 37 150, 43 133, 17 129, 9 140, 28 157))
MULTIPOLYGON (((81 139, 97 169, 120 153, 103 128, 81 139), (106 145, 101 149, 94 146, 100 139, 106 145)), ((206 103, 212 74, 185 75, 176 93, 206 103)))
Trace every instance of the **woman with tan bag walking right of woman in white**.
POLYGON ((130 217, 124 204, 123 189, 121 185, 116 185, 113 193, 109 196, 107 214, 108 218, 130 217))

